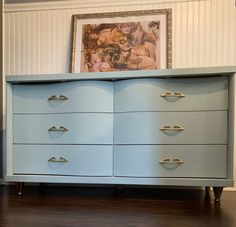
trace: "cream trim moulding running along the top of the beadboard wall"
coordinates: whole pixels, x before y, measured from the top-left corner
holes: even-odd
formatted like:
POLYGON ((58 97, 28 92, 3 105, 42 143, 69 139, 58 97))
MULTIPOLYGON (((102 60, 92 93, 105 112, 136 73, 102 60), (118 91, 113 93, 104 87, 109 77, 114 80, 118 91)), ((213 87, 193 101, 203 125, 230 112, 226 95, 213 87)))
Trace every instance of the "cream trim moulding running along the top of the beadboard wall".
MULTIPOLYGON (((136 0, 135 5, 161 4, 161 3, 178 3, 178 2, 194 2, 194 1, 212 1, 212 0, 136 0)), ((94 8, 109 6, 128 6, 134 5, 130 0, 106 1, 97 0, 64 0, 51 2, 34 2, 34 3, 8 3, 4 5, 4 12, 24 12, 24 11, 41 11, 41 10, 59 10, 73 8, 94 8)))

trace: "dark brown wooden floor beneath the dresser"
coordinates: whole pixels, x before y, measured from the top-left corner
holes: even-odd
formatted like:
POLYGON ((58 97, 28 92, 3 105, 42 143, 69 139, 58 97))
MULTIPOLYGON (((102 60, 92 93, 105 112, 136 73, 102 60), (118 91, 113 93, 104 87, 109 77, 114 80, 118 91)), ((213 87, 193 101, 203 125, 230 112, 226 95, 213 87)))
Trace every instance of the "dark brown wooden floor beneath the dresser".
POLYGON ((236 226, 236 192, 221 204, 200 189, 25 186, 0 187, 0 226, 236 226))

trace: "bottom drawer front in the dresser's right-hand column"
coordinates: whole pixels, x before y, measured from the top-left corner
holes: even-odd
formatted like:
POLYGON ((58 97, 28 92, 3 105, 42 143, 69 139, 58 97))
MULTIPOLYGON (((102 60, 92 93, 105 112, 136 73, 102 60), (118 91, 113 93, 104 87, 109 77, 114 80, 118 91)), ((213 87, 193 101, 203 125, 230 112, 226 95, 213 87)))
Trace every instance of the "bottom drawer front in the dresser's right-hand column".
POLYGON ((226 145, 121 145, 114 148, 114 175, 226 178, 226 160, 226 145))

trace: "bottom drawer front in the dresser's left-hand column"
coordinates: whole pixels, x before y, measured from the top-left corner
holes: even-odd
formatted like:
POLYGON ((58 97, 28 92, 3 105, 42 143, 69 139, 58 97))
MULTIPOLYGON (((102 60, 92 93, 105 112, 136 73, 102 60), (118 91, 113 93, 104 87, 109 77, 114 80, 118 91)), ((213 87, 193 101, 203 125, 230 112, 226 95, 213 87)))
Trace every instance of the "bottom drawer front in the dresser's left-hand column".
POLYGON ((110 145, 14 145, 13 149, 14 174, 111 176, 113 171, 110 145))

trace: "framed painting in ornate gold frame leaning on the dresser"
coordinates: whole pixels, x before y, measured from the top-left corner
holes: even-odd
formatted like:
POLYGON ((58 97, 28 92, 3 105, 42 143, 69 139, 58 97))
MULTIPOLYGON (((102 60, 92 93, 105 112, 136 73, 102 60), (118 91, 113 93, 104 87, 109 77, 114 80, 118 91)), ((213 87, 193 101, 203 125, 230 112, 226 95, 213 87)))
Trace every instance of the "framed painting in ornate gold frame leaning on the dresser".
POLYGON ((171 26, 171 9, 73 15, 70 71, 171 68, 171 26))

